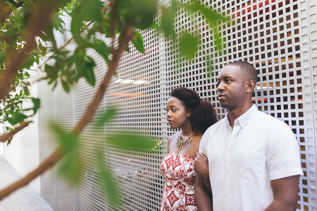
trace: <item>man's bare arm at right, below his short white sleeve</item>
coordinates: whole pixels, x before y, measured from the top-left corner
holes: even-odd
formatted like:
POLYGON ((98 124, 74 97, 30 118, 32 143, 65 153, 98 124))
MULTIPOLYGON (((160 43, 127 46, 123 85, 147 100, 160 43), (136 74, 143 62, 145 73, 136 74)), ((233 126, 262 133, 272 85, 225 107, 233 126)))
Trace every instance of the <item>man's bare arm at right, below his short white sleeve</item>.
POLYGON ((271 180, 274 201, 265 209, 265 211, 296 211, 299 177, 300 175, 295 175, 271 180))

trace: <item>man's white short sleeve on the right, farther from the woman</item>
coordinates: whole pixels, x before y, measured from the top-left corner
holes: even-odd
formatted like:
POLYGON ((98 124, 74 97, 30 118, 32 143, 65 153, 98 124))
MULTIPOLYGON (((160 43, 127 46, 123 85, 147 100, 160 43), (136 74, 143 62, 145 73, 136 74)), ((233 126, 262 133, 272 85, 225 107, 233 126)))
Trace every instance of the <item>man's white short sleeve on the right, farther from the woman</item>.
POLYGON ((266 143, 266 165, 270 180, 304 175, 298 142, 293 131, 283 122, 271 129, 266 143))

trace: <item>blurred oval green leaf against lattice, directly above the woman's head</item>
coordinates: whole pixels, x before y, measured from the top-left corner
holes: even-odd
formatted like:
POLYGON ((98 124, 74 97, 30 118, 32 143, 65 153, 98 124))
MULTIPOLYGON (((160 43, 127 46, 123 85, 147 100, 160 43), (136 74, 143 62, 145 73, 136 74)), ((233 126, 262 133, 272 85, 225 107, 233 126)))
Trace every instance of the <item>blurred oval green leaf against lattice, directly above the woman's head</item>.
POLYGON ((179 42, 181 52, 185 53, 189 59, 193 59, 197 51, 198 38, 192 37, 190 34, 185 33, 182 40, 179 42))

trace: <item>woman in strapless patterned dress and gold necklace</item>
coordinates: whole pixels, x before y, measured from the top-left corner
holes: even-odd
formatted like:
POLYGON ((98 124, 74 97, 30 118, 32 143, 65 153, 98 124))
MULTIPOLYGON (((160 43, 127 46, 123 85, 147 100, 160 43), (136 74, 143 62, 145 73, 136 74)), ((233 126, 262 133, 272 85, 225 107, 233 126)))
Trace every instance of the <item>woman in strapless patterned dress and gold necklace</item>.
POLYGON ((165 179, 161 211, 197 211, 194 160, 200 140, 216 115, 211 102, 201 101, 194 90, 178 87, 170 92, 167 119, 172 129, 181 130, 167 142, 167 155, 160 165, 165 179))

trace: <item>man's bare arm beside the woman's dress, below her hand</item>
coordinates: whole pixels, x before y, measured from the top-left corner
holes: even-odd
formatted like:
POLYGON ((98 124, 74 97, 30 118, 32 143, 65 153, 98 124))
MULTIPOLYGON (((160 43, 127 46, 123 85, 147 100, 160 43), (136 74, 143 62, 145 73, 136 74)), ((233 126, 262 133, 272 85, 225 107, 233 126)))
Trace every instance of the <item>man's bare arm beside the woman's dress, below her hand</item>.
POLYGON ((204 178, 198 172, 195 180, 195 199, 199 211, 212 211, 212 194, 208 191, 204 178))

